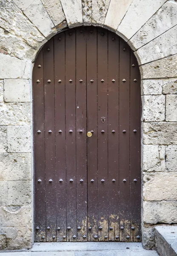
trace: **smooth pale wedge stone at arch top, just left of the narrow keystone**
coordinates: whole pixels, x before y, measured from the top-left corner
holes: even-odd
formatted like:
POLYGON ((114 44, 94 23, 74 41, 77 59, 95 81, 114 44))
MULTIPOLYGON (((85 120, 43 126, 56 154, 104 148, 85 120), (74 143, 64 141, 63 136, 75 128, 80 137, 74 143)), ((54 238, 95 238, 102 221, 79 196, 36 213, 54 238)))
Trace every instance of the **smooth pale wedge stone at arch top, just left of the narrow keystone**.
POLYGON ((60 0, 69 28, 83 25, 82 1, 60 0))

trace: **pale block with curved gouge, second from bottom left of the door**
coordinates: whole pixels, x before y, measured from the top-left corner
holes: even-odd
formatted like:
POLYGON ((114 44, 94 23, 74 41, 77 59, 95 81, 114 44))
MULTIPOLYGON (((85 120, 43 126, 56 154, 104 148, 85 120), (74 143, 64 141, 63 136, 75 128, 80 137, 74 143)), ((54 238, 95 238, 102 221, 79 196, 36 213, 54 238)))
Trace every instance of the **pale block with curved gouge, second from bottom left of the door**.
POLYGON ((0 227, 31 227, 31 206, 0 207, 0 227))

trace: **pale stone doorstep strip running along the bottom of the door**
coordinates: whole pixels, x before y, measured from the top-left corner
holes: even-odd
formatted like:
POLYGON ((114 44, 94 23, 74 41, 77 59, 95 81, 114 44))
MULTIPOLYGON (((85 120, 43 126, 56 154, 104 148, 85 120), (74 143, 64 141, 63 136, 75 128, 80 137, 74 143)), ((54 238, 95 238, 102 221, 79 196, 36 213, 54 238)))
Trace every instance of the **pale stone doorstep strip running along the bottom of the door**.
POLYGON ((124 242, 56 242, 34 243, 26 252, 6 252, 0 256, 158 256, 154 250, 145 250, 141 243, 124 242))

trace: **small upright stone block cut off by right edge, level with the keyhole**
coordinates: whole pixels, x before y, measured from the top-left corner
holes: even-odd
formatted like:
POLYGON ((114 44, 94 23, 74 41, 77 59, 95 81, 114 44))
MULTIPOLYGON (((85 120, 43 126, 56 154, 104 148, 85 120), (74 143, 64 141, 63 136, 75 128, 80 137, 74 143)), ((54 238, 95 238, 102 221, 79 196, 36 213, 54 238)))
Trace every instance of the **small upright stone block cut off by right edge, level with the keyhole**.
POLYGON ((166 95, 166 121, 177 122, 177 95, 166 95))

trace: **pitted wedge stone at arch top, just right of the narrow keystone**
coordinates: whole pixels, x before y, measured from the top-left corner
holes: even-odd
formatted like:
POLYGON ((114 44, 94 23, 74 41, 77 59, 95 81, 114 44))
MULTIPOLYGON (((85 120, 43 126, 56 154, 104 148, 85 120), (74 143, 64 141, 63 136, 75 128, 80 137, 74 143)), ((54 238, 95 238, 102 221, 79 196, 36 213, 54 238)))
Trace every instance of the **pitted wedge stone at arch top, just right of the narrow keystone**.
POLYGON ((103 26, 110 0, 92 0, 91 24, 103 26))

